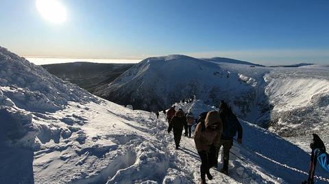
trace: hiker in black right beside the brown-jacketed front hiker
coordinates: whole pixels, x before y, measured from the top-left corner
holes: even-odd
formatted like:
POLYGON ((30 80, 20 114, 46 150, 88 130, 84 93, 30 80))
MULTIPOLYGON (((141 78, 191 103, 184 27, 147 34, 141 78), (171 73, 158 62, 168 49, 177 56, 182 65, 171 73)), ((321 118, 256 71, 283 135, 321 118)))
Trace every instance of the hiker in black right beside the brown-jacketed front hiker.
MULTIPOLYGON (((228 161, 230 159, 230 148, 233 146, 233 137, 236 135, 236 132, 238 132, 238 143, 241 144, 243 130, 238 118, 236 118, 230 107, 228 107, 228 104, 224 101, 221 101, 219 116, 221 116, 221 120, 223 121, 223 133, 221 134, 219 146, 219 148, 223 146, 223 168, 221 172, 228 174, 228 161)), ((216 160, 218 160, 219 148, 216 150, 216 160)))

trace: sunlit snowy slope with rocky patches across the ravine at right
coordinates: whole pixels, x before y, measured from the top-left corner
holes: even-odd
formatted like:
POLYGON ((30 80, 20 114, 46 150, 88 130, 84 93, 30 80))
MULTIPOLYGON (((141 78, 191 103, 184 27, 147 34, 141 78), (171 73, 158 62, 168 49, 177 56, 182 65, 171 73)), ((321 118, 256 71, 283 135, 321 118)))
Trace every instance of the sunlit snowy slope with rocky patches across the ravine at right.
POLYGON ((284 137, 318 133, 329 141, 329 70, 304 67, 273 70, 265 75, 273 105, 271 131, 284 137))

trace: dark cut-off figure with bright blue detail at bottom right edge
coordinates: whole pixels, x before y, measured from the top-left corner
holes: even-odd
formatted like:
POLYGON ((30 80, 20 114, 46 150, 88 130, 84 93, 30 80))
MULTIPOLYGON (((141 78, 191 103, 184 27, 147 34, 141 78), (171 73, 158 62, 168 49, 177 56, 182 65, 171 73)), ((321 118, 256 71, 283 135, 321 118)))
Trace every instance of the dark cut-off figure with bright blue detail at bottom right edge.
POLYGON ((324 146, 324 142, 320 139, 319 135, 313 133, 313 140, 310 143, 310 148, 312 149, 310 155, 310 170, 308 172, 308 179, 302 182, 303 184, 314 183, 314 172, 317 161, 319 161, 322 168, 329 172, 329 155, 326 153, 326 146, 324 146))

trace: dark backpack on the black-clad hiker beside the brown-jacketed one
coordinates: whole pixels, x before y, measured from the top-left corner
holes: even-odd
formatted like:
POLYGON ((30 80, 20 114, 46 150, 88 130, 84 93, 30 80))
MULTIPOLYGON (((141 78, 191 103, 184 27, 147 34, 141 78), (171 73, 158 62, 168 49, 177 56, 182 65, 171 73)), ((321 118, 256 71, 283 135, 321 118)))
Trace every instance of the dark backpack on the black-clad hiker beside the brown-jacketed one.
POLYGON ((238 118, 232 112, 221 112, 221 120, 223 121, 223 133, 221 133, 221 137, 229 139, 234 137, 239 129, 238 118))

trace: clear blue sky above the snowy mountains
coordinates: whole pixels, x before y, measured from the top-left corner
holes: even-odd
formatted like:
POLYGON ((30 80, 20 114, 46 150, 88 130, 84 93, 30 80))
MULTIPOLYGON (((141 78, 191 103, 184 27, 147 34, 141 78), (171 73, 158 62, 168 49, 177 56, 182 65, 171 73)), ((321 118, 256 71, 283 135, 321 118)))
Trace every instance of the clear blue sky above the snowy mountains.
POLYGON ((25 57, 329 64, 327 0, 1 0, 0 26, 0 46, 25 57))

